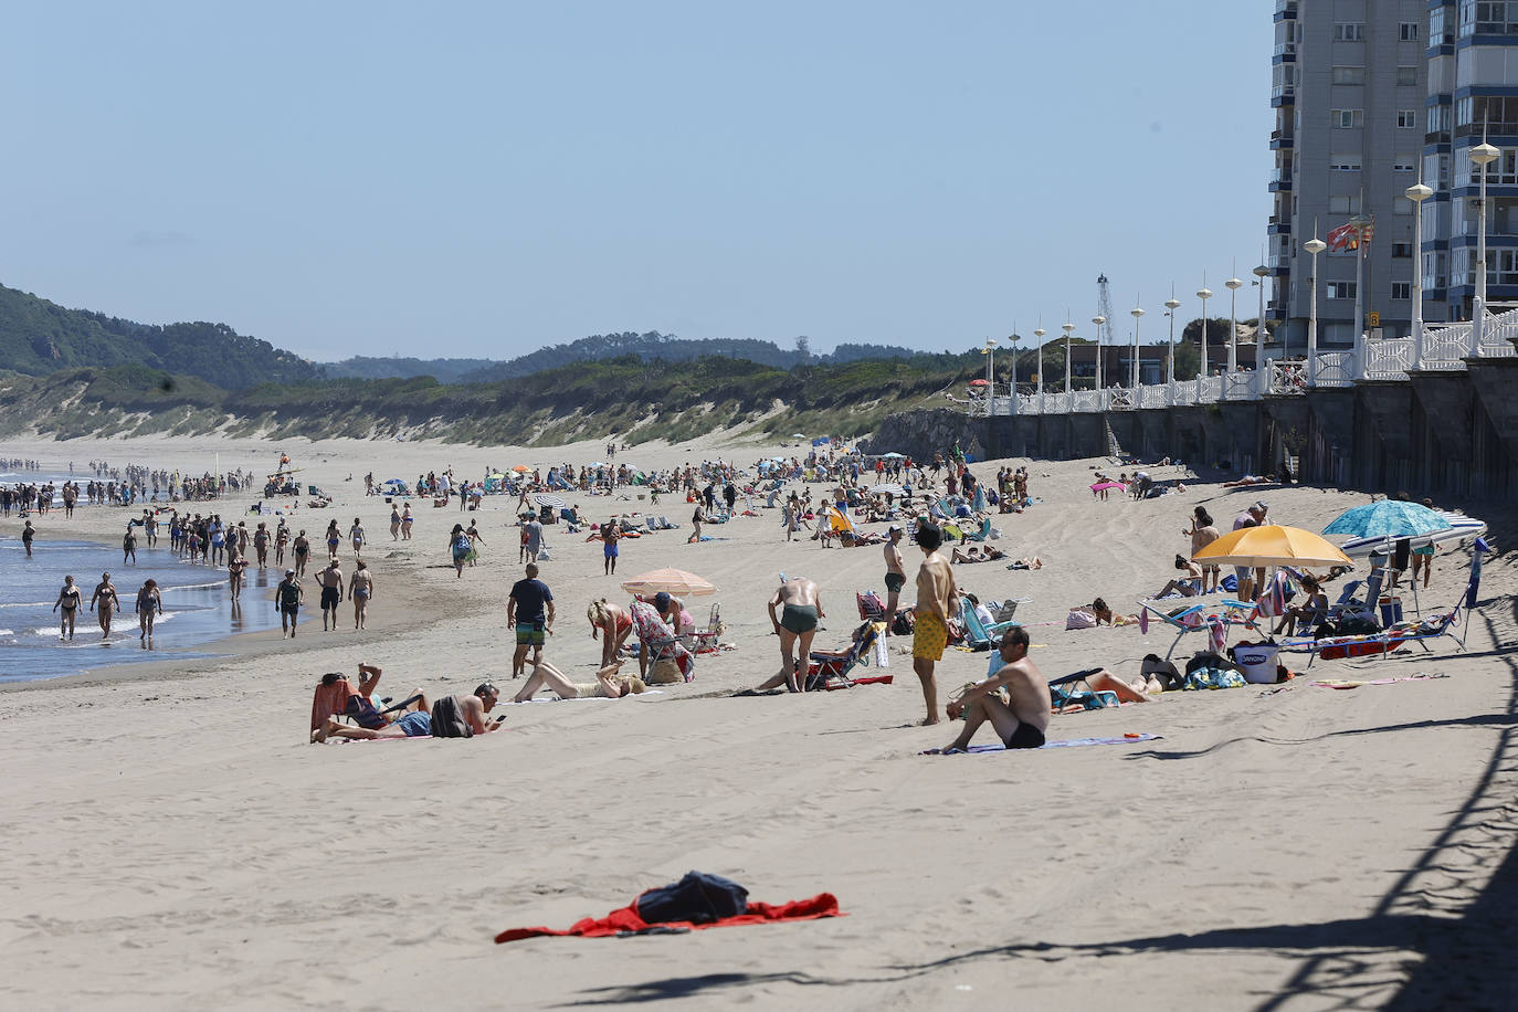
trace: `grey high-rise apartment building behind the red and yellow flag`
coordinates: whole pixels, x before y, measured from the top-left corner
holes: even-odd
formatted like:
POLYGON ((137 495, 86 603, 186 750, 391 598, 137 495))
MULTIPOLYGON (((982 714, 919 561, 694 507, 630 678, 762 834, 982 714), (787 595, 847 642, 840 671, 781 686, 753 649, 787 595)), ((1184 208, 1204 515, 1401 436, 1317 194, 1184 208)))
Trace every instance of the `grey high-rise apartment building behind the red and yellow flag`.
MULTIPOLYGON (((1518 14, 1518 0, 1510 6, 1518 14)), ((1428 0, 1275 0, 1266 317, 1281 322, 1277 347, 1307 347, 1312 256, 1302 243, 1356 218, 1374 223, 1363 266, 1351 249, 1318 256, 1319 346, 1354 341, 1357 306, 1366 329, 1384 337, 1412 329, 1415 205, 1404 191, 1418 181, 1431 129, 1427 8, 1428 0)))

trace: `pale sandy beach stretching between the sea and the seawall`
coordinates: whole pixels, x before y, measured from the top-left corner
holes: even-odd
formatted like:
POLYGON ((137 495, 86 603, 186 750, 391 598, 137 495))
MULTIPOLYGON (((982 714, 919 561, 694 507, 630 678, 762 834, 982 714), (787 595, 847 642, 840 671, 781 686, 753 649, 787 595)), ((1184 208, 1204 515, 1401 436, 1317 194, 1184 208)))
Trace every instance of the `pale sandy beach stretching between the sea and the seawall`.
MULTIPOLYGON (((704 622, 720 601, 723 639, 736 646, 703 657, 695 681, 622 701, 510 706, 509 730, 475 740, 310 745, 313 686, 360 662, 380 665, 383 690, 398 696, 413 686, 468 692, 484 678, 515 690, 504 616, 521 577, 515 499, 487 498, 471 514, 417 501, 413 540, 392 543, 389 507, 363 495, 363 475, 546 470, 601 460, 604 443, 0 443, 0 455, 74 460, 80 470, 103 457, 191 473, 216 463, 267 473, 281 449, 307 469, 302 481, 335 496, 329 510, 302 507, 296 528, 314 539, 331 517, 345 531, 363 519, 376 578, 369 628, 354 633, 345 604, 345 627, 323 634, 308 607, 298 639, 222 640, 209 649, 225 660, 0 692, 9 1007, 1512 1007, 1510 511, 1438 504, 1486 519, 1497 548, 1465 654, 1444 639, 1431 652, 1319 662, 1281 690, 1167 692, 1050 727, 1052 740, 1158 740, 924 757, 956 725, 912 727, 921 695, 908 640, 893 640, 891 686, 729 695, 779 668, 764 602, 780 570, 821 586, 817 643, 841 646, 859 622, 855 592, 883 595, 880 549, 788 545, 777 510, 686 545, 689 507, 671 496, 657 511, 685 526, 624 540, 615 578, 601 572, 598 542, 550 528, 543 580, 559 622, 546 655, 589 678, 600 643, 587 602, 625 602, 621 578, 676 566, 718 586, 691 610, 704 622), (446 533, 469 517, 487 543, 457 580, 446 533), (1395 681, 1334 690, 1315 678, 1395 681), (600 916, 689 869, 732 877, 771 903, 832 892, 847 916, 492 942, 509 927, 600 916)), ((644 467, 716 457, 747 466, 776 452, 773 442, 729 435, 622 457, 644 467)), ((997 545, 1044 567, 955 570, 982 598, 1028 598, 1017 619, 1050 678, 1094 666, 1132 674, 1145 654, 1166 652, 1161 628, 1066 631, 1064 616, 1098 595, 1129 611, 1175 575, 1195 505, 1227 528, 1264 498, 1277 522, 1321 530, 1369 501, 1201 481, 1102 502, 1087 487, 1098 461, 1017 463, 1041 502, 999 517, 997 545)), ((997 464, 973 470, 984 479, 997 464)), ((255 498, 213 508, 240 519, 255 498)), ((566 499, 592 520, 645 505, 566 499)), ((97 508, 71 522, 41 517, 38 530, 109 545, 123 523, 123 511, 97 508)), ((0 520, 0 536, 18 528, 0 520)), ((920 552, 903 551, 915 569, 920 552)), ((345 572, 351 557, 345 545, 345 572)), ((1463 549, 1439 555, 1425 613, 1454 604, 1468 561, 1463 549)), ((985 666, 985 654, 950 649, 941 698, 985 666)))

